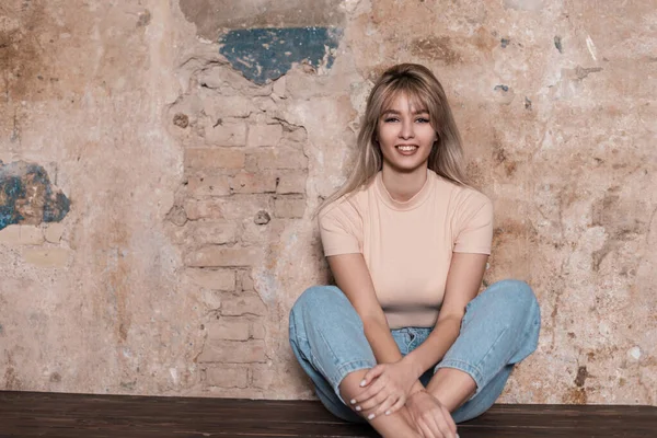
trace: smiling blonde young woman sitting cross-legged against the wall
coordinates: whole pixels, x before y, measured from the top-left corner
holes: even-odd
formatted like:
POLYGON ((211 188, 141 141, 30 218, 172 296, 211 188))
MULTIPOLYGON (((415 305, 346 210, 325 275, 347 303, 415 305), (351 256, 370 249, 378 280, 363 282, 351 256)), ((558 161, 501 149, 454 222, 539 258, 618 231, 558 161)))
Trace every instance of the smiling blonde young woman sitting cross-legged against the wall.
POLYGON ((425 67, 376 83, 345 185, 319 208, 336 286, 306 290, 290 344, 334 415, 384 437, 456 437, 485 412, 537 347, 530 287, 503 280, 477 296, 493 206, 466 185, 442 87, 425 67))

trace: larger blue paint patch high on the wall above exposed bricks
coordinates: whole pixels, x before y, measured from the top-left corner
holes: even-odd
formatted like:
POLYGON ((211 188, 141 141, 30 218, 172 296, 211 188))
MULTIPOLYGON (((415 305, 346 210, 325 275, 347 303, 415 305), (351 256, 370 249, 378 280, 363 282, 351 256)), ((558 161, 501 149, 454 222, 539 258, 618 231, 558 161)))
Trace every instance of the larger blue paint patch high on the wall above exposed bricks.
POLYGON ((235 30, 219 39, 219 53, 246 79, 264 84, 287 73, 292 62, 320 67, 325 59, 331 68, 341 36, 337 27, 235 30))

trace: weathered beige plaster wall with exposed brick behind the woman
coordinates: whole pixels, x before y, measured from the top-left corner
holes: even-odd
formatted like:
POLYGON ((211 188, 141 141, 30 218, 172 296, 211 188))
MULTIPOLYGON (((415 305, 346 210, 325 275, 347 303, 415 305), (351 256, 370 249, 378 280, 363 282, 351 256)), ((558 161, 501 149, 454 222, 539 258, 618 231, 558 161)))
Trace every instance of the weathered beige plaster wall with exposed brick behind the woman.
POLYGON ((312 397, 311 214, 415 61, 541 304, 500 402, 657 404, 654 1, 312 3, 2 2, 0 389, 312 397))

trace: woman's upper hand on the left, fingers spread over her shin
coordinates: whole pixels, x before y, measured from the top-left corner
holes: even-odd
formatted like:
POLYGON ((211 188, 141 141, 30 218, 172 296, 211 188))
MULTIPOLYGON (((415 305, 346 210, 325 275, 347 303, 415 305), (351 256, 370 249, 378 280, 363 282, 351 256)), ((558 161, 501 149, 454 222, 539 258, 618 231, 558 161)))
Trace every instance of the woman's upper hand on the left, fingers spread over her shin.
POLYGON ((417 379, 403 360, 377 365, 365 374, 360 387, 367 390, 351 399, 351 405, 356 406, 356 411, 376 408, 368 419, 383 414, 390 415, 406 403, 415 380, 417 379))

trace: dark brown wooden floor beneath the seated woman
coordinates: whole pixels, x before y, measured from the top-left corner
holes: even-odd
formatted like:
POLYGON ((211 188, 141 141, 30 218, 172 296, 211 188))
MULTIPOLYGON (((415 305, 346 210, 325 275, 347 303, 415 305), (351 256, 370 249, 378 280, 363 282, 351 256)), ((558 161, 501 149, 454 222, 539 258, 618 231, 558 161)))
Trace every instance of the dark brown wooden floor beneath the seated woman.
MULTIPOLYGON (((495 405, 461 438, 656 438, 657 407, 495 405)), ((0 391, 0 437, 376 437, 319 402, 0 391)))

